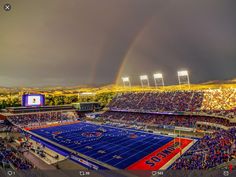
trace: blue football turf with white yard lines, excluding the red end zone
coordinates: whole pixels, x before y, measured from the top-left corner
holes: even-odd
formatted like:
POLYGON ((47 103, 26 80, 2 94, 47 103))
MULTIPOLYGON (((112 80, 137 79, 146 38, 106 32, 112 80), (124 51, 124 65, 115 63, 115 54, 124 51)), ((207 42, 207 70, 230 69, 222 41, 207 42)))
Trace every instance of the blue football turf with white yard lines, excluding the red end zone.
POLYGON ((127 168, 173 140, 168 136, 85 122, 31 131, 119 169, 127 168))

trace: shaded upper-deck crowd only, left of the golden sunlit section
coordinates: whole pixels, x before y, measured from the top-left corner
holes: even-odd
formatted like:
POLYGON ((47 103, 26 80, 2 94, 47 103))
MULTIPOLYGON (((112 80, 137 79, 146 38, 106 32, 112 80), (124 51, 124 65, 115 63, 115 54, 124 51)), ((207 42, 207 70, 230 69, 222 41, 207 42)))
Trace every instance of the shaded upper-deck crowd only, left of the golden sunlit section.
POLYGON ((118 95, 110 103, 110 108, 139 109, 149 111, 186 111, 201 107, 202 92, 137 92, 118 95))

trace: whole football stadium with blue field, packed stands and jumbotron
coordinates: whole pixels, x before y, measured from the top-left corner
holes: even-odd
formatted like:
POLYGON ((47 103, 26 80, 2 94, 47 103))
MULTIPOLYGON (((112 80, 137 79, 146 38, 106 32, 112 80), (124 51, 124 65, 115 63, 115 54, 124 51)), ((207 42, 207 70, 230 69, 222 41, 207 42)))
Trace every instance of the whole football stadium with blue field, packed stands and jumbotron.
POLYGON ((76 169, 95 171, 230 170, 236 155, 236 88, 222 86, 119 87, 100 111, 93 102, 81 103, 79 110, 74 104, 46 106, 45 95, 24 94, 21 107, 0 114, 14 141, 10 150, 1 139, 3 166, 64 168, 70 161, 76 169))

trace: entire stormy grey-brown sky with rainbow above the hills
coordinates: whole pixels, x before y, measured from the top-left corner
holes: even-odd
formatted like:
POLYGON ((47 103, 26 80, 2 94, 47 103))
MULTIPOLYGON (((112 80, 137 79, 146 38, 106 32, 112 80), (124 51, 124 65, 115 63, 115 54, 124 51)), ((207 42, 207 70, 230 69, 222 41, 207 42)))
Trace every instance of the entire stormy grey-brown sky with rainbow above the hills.
POLYGON ((235 0, 0 0, 0 86, 236 78, 235 0), (10 3, 11 11, 3 5, 10 3))

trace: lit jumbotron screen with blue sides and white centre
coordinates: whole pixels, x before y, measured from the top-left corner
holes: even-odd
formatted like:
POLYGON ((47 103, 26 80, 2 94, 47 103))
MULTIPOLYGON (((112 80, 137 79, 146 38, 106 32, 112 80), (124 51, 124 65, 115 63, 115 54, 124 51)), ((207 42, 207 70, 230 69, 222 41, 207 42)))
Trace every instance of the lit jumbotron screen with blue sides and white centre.
POLYGON ((22 96, 22 106, 44 106, 45 96, 41 94, 25 94, 22 96))

